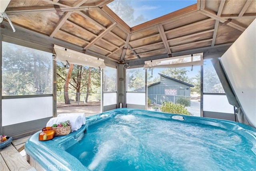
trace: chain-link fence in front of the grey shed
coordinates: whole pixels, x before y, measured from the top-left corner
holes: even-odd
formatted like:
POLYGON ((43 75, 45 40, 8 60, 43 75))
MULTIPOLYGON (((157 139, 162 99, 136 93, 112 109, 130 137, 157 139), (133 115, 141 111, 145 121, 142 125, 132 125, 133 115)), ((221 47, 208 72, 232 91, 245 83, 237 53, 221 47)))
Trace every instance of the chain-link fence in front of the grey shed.
POLYGON ((151 94, 148 95, 151 104, 162 105, 162 102, 168 101, 174 104, 180 103, 188 109, 188 112, 193 116, 200 116, 200 97, 186 97, 179 95, 162 95, 151 94))

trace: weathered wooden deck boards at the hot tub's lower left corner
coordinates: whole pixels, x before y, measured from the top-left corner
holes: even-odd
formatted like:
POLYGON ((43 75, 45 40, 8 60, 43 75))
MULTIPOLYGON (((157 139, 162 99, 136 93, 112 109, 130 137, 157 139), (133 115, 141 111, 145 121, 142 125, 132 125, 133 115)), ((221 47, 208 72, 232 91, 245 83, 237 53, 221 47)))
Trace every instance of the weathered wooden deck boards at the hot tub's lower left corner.
POLYGON ((29 137, 14 140, 0 151, 0 171, 36 171, 19 153, 29 137))

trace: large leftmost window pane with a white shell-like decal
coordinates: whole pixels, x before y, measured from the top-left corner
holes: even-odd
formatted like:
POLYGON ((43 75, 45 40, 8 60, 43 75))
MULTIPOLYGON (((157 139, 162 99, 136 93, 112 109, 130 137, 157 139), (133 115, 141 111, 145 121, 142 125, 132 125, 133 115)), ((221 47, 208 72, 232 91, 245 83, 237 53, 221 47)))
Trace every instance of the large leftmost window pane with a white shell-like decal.
POLYGON ((52 93, 52 54, 2 42, 2 95, 52 93))

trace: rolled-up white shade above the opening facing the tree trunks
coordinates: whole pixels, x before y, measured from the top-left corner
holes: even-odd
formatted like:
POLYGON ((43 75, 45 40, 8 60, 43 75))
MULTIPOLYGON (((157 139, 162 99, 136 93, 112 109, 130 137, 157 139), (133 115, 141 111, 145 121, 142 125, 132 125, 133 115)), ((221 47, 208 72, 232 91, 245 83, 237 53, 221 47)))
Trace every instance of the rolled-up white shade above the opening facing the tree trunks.
POLYGON ((58 45, 54 45, 54 50, 56 52, 56 56, 53 60, 61 61, 70 64, 77 64, 82 66, 89 66, 93 68, 106 68, 104 60, 101 58, 96 58, 94 56, 90 56, 88 54, 83 54, 81 52, 76 52, 74 50, 70 50, 67 48, 63 48, 58 45))

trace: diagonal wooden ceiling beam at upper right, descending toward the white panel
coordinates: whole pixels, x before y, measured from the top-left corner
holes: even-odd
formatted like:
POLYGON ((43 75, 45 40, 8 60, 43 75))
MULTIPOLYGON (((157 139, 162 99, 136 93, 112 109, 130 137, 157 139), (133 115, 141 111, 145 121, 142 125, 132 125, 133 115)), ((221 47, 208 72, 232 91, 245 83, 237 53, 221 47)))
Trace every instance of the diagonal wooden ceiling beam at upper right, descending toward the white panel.
POLYGON ((216 12, 214 12, 212 10, 204 9, 204 10, 200 10, 200 12, 210 18, 213 18, 214 20, 218 20, 218 21, 220 21, 230 27, 233 27, 237 30, 240 30, 242 32, 246 29, 246 26, 244 26, 243 24, 221 18, 220 16, 217 16, 216 12))

